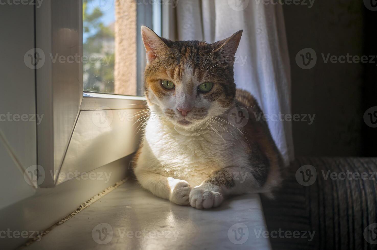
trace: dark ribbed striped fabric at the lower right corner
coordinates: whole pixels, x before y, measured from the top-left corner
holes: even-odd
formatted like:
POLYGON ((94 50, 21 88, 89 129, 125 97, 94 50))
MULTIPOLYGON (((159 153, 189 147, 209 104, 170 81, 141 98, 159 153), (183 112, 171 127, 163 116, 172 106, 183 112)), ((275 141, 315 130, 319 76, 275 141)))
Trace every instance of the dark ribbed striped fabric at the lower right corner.
POLYGON ((377 223, 376 172, 377 158, 297 159, 287 169, 275 200, 262 197, 268 231, 281 232, 270 237, 273 249, 377 249, 377 224, 371 225, 377 223), (305 165, 316 169, 310 186, 297 181, 305 165), (299 238, 290 236, 296 230, 299 238), (315 231, 313 240, 304 231, 315 231))

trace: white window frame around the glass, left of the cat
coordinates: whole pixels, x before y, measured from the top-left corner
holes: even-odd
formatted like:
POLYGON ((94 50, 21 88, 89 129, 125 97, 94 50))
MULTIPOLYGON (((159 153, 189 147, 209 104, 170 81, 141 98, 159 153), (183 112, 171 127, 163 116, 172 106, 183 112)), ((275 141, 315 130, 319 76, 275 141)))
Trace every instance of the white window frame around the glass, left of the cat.
MULTIPOLYGON (((161 35, 162 25, 156 21, 161 21, 162 18, 155 16, 155 25, 153 25, 152 16, 153 14, 161 15, 162 6, 158 4, 137 6, 135 32, 138 34, 137 94, 139 96, 83 91, 81 62, 68 64, 53 63, 51 60, 50 55, 83 55, 82 8, 82 1, 45 0, 40 8, 35 9, 35 44, 45 56, 43 67, 36 69, 37 113, 44 114, 42 122, 37 125, 37 163, 44 171, 44 180, 38 182, 38 187, 54 187, 62 183, 66 179, 58 178, 61 173, 73 169, 78 173, 89 172, 130 155, 135 152, 139 141, 139 137, 130 132, 130 127, 135 127, 138 123, 132 125, 133 122, 114 120, 106 130, 96 126, 84 127, 83 124, 90 123, 90 119, 96 115, 97 110, 137 112, 145 107, 145 98, 141 97, 143 94, 143 70, 141 69, 144 69, 146 61, 144 47, 139 46, 143 44, 139 30, 141 25, 147 25, 156 29, 161 35), (122 136, 128 143, 127 145, 120 143, 122 153, 106 151, 107 145, 113 143, 111 138, 114 137, 111 135, 125 130, 129 132, 122 136), (107 133, 109 141, 104 143, 102 138, 100 145, 100 143, 96 144, 95 139, 86 137, 85 140, 80 140, 80 135, 90 135, 90 133, 107 133), (87 147, 88 144, 92 145, 90 149, 87 147), (86 161, 78 156, 91 160, 86 161)), ((114 119, 117 119, 116 115, 114 119)))

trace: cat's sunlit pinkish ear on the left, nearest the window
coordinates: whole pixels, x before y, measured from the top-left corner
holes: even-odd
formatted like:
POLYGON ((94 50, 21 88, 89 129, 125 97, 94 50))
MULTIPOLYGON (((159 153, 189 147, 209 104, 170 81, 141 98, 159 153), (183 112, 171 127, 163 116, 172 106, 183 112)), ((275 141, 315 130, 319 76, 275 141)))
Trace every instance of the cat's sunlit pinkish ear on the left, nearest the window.
POLYGON ((152 62, 157 56, 168 49, 164 41, 152 30, 146 26, 141 26, 141 38, 147 52, 147 62, 152 62))

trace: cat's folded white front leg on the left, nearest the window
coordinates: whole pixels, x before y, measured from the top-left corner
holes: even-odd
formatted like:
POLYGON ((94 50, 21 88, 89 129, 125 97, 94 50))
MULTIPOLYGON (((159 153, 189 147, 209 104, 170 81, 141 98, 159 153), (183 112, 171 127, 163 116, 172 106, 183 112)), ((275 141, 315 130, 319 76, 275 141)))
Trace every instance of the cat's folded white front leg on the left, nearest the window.
POLYGON ((189 195, 192 187, 187 181, 143 170, 135 171, 135 175, 141 186, 152 194, 175 204, 190 204, 189 195))

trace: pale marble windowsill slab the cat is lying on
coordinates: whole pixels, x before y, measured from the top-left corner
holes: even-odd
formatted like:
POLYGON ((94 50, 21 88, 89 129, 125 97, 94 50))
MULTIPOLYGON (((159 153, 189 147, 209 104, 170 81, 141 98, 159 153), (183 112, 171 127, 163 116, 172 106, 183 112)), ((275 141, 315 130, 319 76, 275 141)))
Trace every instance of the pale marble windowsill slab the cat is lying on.
POLYGON ((199 210, 156 197, 128 179, 26 249, 51 246, 92 249, 106 243, 106 248, 111 249, 126 246, 268 250, 271 249, 269 239, 258 234, 265 230, 258 194, 232 197, 215 209, 199 210))

